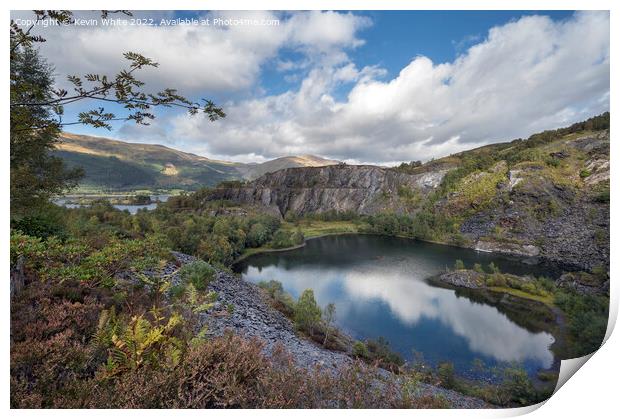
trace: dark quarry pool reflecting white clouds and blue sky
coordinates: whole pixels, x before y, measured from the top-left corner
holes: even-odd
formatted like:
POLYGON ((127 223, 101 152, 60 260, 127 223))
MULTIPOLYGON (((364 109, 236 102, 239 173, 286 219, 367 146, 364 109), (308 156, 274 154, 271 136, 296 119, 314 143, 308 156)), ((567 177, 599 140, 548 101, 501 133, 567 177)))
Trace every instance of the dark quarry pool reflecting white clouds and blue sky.
POLYGON ((295 298, 312 288, 322 307, 335 303, 340 329, 360 340, 382 336, 408 360, 416 351, 433 365, 454 363, 463 375, 475 375, 475 360, 486 366, 517 362, 530 373, 550 368, 550 333, 528 330, 498 307, 425 281, 456 259, 466 267, 493 262, 514 274, 556 274, 552 267, 490 253, 371 235, 308 240, 299 249, 251 256, 235 270, 252 282, 280 281, 295 298))

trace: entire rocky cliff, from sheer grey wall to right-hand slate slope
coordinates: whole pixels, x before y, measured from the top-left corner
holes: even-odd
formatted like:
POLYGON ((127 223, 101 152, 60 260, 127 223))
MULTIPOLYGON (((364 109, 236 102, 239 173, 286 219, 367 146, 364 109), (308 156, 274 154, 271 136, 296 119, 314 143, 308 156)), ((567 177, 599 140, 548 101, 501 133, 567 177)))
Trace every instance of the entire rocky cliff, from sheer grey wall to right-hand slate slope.
POLYGON ((515 144, 472 150, 408 172, 348 165, 285 169, 239 188, 217 189, 214 198, 282 216, 351 211, 415 217, 425 211, 427 218, 440 214, 452 220, 458 234, 421 238, 460 237, 458 245, 480 251, 532 262, 543 258, 570 269, 608 269, 609 131, 570 133, 521 149, 515 144), (447 172, 481 153, 492 164, 428 199, 447 172))

